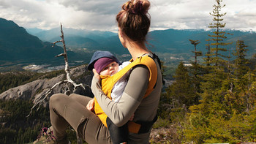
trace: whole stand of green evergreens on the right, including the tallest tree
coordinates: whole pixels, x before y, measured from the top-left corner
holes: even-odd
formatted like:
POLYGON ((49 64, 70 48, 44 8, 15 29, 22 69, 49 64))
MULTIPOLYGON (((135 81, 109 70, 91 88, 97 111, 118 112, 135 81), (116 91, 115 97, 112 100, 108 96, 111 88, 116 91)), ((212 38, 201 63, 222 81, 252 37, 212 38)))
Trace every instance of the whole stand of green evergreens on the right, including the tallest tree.
POLYGON ((189 66, 181 61, 173 76, 175 82, 162 94, 157 126, 171 132, 158 140, 171 143, 248 143, 256 141, 256 69, 255 50, 246 41, 237 40, 229 53, 229 33, 222 23, 222 1, 211 12, 214 23, 208 34, 206 53, 195 46, 189 66), (254 53, 246 58, 247 53, 254 53), (202 58, 202 62, 197 59, 202 58), (161 125, 162 124, 162 125, 161 125), (165 138, 169 140, 165 140, 165 138))

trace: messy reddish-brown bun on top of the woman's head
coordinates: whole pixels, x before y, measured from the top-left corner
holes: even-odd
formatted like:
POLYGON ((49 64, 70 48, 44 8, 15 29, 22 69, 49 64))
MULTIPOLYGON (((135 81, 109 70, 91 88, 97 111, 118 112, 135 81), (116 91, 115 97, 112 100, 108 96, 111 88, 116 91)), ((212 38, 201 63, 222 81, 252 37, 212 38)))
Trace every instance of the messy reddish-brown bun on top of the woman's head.
POLYGON ((138 14, 144 14, 148 12, 150 7, 150 2, 148 0, 131 0, 128 1, 123 6, 123 10, 138 15, 138 14))

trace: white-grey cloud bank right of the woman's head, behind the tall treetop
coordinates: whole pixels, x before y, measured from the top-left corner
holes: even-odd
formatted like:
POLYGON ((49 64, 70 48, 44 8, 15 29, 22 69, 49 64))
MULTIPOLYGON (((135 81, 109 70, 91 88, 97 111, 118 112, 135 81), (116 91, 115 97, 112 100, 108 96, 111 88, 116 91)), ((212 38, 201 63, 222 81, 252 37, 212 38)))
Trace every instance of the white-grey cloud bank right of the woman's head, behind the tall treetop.
MULTIPOLYGON (((159 26, 174 29, 208 29, 208 24, 213 23, 209 12, 214 9, 213 5, 216 4, 214 0, 181 0, 168 3, 160 0, 153 2, 155 4, 152 7, 151 15, 153 27, 156 29, 159 26)), ((227 12, 223 17, 223 23, 227 23, 225 28, 256 31, 255 0, 226 0, 222 2, 222 5, 224 4, 226 6, 222 8, 221 12, 227 12)))

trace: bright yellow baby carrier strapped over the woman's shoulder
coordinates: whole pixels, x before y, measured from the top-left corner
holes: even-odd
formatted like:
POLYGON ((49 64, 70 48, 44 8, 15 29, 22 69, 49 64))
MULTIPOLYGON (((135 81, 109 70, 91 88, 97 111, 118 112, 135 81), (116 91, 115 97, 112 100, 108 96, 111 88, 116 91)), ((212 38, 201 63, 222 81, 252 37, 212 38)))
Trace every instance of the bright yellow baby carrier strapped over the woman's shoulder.
MULTIPOLYGON (((156 55, 154 55, 154 56, 156 56, 156 55)), ((146 94, 145 94, 145 96, 143 96, 143 98, 148 96, 148 94, 151 94, 151 91, 154 90, 154 86, 157 83, 157 65, 156 65, 154 59, 151 58, 151 56, 140 56, 135 61, 133 61, 133 59, 131 59, 130 61, 131 61, 131 63, 127 67, 124 67, 124 69, 121 69, 115 75, 112 75, 112 76, 108 76, 108 75, 103 76, 103 75, 101 75, 100 76, 101 79, 102 79, 102 83, 101 83, 102 84, 102 91, 108 96, 108 98, 111 99, 110 94, 111 94, 112 88, 115 85, 115 83, 121 77, 123 77, 130 69, 132 69, 132 67, 135 67, 135 66, 141 65, 141 64, 148 67, 149 73, 150 73, 148 88, 147 88, 146 94)), ((94 111, 95 111, 95 114, 102 121, 102 124, 104 124, 106 127, 108 127, 107 122, 106 122, 106 120, 108 118, 108 115, 106 115, 103 112, 102 108, 99 106, 99 103, 97 102, 97 99, 95 99, 94 111)), ((154 121, 156 121, 156 119, 154 121)), ((133 121, 129 121, 128 122, 128 129, 129 129, 129 132, 138 133, 141 129, 141 124, 136 124, 133 121)))

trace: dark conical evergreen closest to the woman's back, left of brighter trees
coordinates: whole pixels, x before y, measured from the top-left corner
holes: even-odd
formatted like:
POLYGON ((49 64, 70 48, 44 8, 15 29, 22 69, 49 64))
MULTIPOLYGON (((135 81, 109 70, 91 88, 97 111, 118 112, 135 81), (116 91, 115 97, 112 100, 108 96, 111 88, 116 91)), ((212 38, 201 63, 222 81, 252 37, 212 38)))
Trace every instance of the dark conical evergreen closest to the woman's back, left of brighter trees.
POLYGON ((189 76, 188 68, 181 61, 178 64, 175 75, 175 81, 166 88, 159 103, 159 116, 168 121, 182 121, 190 105, 195 105, 197 97, 192 85, 192 79, 189 76))

